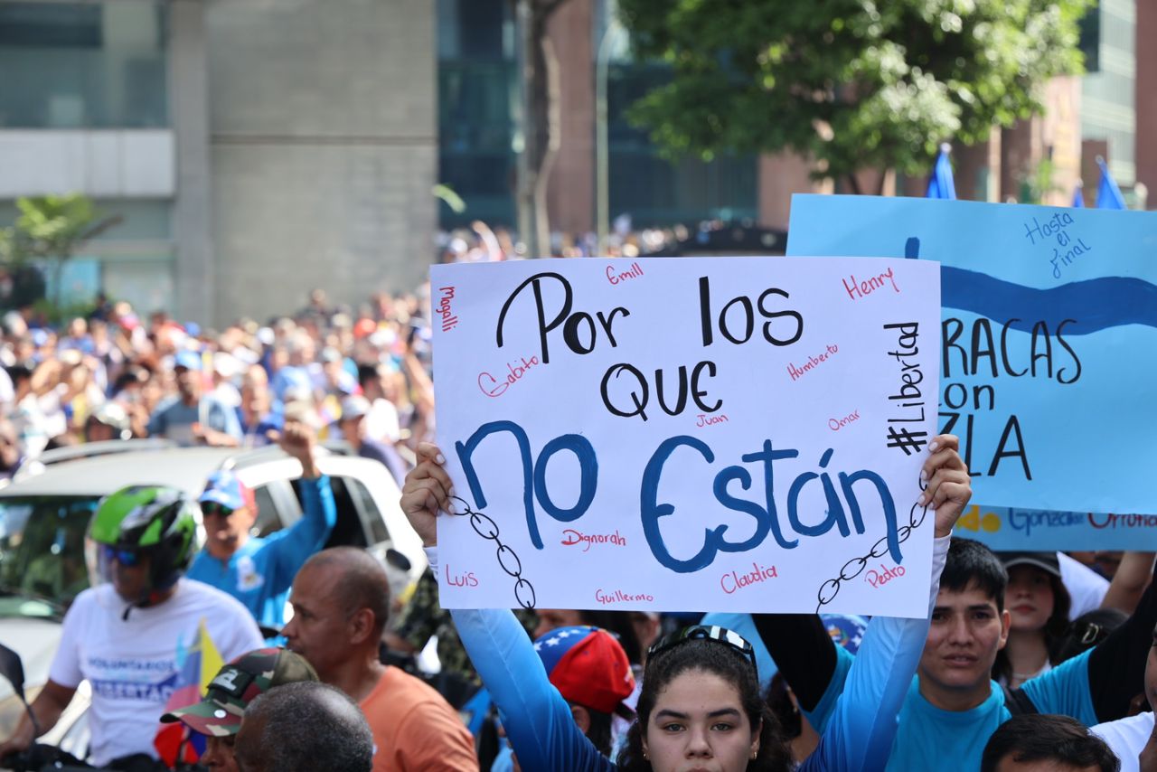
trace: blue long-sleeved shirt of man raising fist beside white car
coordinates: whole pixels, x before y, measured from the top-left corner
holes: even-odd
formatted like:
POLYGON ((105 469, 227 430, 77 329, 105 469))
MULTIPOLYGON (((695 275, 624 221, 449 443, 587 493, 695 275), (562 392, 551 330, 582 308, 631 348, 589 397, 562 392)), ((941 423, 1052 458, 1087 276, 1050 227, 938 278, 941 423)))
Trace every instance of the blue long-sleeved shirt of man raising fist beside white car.
POLYGON ((186 574, 228 593, 258 623, 278 630, 285 624, 286 598, 294 576, 322 549, 337 521, 330 478, 301 480, 303 514, 290 528, 266 538, 251 537, 227 561, 201 550, 186 574))

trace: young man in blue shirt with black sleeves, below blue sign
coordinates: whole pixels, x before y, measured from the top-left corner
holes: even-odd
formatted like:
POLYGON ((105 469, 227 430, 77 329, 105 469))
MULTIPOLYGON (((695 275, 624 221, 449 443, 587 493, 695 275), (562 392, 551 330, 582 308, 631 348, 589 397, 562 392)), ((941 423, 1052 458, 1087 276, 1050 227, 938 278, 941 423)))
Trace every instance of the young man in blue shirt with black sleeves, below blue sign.
MULTIPOLYGON (((1008 640, 1007 582, 988 547, 953 537, 887 770, 973 772, 988 738, 1014 715, 1062 714, 1085 726, 1126 715, 1152 646, 1157 588, 1099 646, 1007 691, 990 678, 1008 640)), ((808 720, 823 730, 855 657, 833 646, 815 617, 765 615, 757 625, 808 720)))

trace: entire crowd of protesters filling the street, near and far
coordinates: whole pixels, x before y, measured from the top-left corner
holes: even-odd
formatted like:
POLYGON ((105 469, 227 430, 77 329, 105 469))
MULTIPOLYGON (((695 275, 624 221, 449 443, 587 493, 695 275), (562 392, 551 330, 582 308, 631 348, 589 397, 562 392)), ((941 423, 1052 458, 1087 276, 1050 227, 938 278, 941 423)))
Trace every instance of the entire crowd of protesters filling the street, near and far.
MULTIPOLYGON (((476 235, 448 245, 456 259, 503 249, 476 235)), ((428 288, 356 309, 316 291, 221 331, 125 303, 59 331, 3 317, 5 476, 82 442, 274 443, 301 464, 303 515, 252 535, 253 493, 227 470, 196 500, 147 480, 102 500, 89 536, 104 581, 68 609, 0 758, 50 753, 36 737, 87 681, 87 762, 132 772, 1157 771, 1155 554, 997 554, 952 536, 971 477, 951 435, 922 476, 923 619, 441 609, 450 479, 432 443, 429 318, 428 288), (429 568, 400 610, 377 558, 324 549, 329 440, 401 486, 429 568), (226 664, 184 699, 197 641, 226 664), (436 675, 415 659, 432 648, 436 675)))

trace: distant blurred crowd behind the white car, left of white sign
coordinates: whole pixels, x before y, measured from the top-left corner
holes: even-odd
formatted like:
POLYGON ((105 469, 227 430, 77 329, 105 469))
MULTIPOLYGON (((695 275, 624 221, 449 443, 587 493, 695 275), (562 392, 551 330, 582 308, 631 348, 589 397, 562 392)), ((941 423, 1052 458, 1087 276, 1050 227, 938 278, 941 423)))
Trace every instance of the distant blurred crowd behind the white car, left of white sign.
POLYGON ((29 311, 0 319, 0 476, 60 447, 130 438, 251 448, 287 418, 348 441, 399 480, 433 429, 425 294, 377 294, 358 309, 311 293, 267 325, 221 331, 101 303, 61 330, 29 311))

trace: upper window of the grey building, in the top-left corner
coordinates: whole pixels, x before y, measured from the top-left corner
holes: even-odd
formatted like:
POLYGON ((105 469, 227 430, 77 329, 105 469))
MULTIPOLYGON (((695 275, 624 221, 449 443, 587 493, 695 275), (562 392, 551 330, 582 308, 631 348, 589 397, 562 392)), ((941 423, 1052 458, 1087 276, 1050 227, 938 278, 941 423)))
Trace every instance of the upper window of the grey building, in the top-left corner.
POLYGON ((168 125, 160 0, 0 2, 0 127, 168 125))

